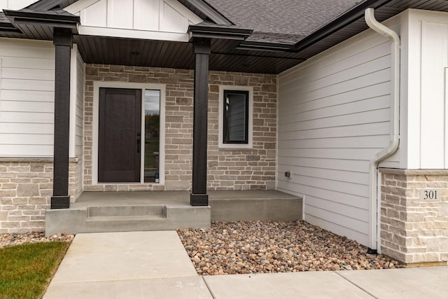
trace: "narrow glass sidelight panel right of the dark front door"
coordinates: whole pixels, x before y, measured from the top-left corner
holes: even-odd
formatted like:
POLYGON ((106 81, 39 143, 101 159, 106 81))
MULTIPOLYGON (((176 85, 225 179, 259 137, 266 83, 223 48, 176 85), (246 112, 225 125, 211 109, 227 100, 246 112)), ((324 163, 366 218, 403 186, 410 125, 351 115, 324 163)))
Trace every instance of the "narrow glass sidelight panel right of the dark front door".
POLYGON ((160 90, 145 90, 145 182, 159 183, 160 90))

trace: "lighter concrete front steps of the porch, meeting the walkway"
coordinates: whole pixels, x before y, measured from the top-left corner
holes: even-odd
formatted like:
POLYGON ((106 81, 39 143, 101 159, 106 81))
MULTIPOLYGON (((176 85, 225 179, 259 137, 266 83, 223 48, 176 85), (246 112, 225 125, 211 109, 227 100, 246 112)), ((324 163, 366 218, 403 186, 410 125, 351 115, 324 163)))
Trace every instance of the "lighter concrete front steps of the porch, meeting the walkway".
POLYGON ((50 209, 45 214, 45 235, 210 228, 210 215, 210 207, 189 204, 50 209))

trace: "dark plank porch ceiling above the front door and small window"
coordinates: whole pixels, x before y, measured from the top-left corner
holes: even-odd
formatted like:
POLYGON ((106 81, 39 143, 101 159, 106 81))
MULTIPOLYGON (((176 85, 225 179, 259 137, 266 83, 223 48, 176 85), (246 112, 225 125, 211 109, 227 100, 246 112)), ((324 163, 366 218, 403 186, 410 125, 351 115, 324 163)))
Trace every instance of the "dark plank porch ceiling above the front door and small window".
MULTIPOLYGON (((192 43, 74 36, 86 63, 194 69, 192 43)), ((247 73, 279 74, 303 61, 298 53, 234 50, 239 42, 214 39, 210 69, 247 73)))

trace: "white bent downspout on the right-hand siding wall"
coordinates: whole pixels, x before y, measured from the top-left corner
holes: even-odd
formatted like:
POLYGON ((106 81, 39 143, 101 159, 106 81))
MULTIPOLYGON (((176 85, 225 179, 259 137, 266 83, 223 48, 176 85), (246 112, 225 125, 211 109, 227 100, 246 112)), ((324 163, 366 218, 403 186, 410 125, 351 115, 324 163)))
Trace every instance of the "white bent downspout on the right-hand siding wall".
POLYGON ((381 35, 386 36, 391 41, 391 141, 387 148, 379 151, 370 160, 370 249, 377 250, 381 244, 378 244, 377 225, 379 211, 377 207, 378 196, 378 164, 384 159, 390 157, 397 151, 399 144, 399 122, 400 122, 400 37, 396 32, 382 25, 374 17, 374 9, 365 10, 365 22, 367 25, 381 35))

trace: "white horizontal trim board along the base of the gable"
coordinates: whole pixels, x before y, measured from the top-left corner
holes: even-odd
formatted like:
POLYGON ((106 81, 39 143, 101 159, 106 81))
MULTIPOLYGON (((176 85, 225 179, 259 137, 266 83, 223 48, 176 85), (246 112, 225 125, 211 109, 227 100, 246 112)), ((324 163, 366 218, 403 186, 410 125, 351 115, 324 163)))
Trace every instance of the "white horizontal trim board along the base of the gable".
POLYGON ((188 42, 187 33, 150 32, 135 29, 104 28, 83 25, 80 25, 78 27, 78 32, 79 35, 111 36, 123 37, 128 39, 151 39, 156 41, 183 41, 185 43, 188 42))

